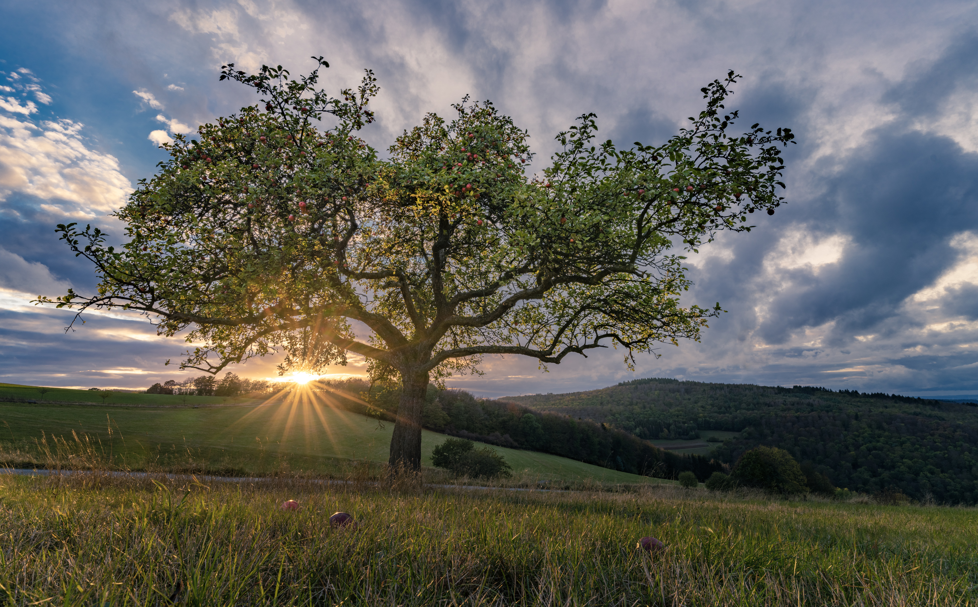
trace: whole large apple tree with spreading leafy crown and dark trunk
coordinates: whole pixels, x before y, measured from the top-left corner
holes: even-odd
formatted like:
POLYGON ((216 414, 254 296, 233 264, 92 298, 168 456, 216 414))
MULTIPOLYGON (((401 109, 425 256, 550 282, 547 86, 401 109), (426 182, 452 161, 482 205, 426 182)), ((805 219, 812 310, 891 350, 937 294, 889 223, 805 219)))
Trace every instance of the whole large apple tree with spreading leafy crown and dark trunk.
POLYGON ((679 252, 749 231, 750 213, 783 201, 778 145, 793 135, 729 132, 733 71, 701 89, 706 108, 664 144, 600 143, 587 113, 528 175, 528 134, 468 98, 380 158, 358 134, 375 119, 373 73, 333 97, 317 62, 299 78, 224 66, 221 79, 260 103, 163 146, 169 158, 115 214, 120 248, 98 228, 59 226, 101 282, 39 301, 186 331, 204 345, 183 369, 283 352, 282 372, 315 372, 361 355, 402 383, 390 463, 417 469, 429 379, 478 372, 487 354, 547 365, 608 346, 631 366, 656 344, 698 339, 721 307, 681 305, 679 252))

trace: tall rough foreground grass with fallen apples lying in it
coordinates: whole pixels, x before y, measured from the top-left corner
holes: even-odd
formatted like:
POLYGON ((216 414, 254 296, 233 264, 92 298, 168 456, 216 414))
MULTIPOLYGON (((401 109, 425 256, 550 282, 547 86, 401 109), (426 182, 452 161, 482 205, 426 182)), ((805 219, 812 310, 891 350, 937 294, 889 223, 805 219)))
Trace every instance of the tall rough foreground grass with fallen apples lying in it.
POLYGON ((974 509, 0 478, 10 605, 974 605, 974 509), (284 499, 302 509, 282 511, 284 499), (331 530, 333 511, 356 528, 331 530), (651 556, 639 538, 665 542, 651 556))

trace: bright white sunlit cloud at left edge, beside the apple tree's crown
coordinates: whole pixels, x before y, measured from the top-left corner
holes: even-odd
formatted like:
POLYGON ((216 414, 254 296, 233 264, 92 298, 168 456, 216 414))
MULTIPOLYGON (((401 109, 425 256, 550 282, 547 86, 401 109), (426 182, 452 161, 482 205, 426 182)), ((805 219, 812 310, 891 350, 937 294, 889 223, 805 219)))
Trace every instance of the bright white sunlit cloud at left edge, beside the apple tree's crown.
POLYGON ((110 154, 89 150, 82 124, 39 124, 0 115, 0 202, 14 192, 45 200, 42 208, 75 218, 111 212, 132 191, 110 154))

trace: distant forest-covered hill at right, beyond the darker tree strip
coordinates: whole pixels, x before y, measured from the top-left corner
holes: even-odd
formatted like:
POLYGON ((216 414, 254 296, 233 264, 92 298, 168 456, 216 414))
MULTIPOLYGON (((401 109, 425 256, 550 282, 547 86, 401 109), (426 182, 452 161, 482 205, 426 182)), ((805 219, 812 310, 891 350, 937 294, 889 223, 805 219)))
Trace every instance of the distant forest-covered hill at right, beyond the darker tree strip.
POLYGON ((718 445, 718 460, 733 464, 752 447, 778 447, 813 464, 837 487, 978 503, 978 408, 969 403, 659 378, 500 401, 592 419, 643 439, 739 432, 718 445))

